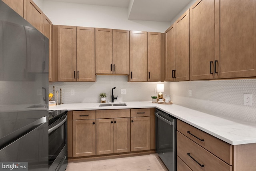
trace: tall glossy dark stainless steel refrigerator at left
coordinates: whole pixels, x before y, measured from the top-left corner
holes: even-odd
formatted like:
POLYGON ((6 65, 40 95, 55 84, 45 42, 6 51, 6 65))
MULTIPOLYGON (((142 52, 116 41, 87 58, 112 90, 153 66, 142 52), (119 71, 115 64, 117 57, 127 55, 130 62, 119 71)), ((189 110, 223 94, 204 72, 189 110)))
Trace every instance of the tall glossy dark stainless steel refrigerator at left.
POLYGON ((48 170, 48 53, 48 38, 0 0, 0 170, 48 170))

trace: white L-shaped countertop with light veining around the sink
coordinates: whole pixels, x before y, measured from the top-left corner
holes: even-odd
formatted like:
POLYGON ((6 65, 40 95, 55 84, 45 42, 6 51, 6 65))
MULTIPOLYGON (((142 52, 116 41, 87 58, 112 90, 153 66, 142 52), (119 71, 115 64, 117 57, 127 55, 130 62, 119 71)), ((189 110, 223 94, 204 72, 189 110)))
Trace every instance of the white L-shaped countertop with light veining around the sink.
POLYGON ((49 110, 100 110, 156 107, 231 145, 256 143, 256 123, 224 115, 210 115, 180 105, 165 105, 151 101, 125 102, 127 106, 99 107, 100 103, 67 103, 49 107, 49 110))

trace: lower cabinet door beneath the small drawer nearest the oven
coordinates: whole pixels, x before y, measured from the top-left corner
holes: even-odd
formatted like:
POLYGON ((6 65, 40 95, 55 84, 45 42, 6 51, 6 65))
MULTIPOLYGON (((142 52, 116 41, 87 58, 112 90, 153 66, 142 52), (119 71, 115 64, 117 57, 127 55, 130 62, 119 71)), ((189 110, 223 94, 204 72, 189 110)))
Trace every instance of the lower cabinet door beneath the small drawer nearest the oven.
POLYGON ((73 157, 96 155, 95 119, 73 121, 73 157))

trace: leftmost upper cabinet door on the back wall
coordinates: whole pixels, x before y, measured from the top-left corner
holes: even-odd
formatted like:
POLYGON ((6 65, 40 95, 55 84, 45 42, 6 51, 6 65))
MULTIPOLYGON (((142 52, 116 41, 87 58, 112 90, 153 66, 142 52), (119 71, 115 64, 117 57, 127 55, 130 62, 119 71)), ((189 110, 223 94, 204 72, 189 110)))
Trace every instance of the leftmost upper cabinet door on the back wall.
POLYGON ((76 78, 76 26, 58 26, 58 82, 76 78))

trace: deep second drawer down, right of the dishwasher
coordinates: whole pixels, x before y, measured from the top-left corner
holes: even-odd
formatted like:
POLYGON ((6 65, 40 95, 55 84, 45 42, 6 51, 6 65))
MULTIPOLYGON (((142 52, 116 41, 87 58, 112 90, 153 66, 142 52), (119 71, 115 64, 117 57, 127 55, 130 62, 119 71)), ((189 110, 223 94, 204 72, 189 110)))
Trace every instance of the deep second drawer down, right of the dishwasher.
POLYGON ((232 166, 220 160, 178 131, 177 155, 193 171, 232 171, 232 166))

